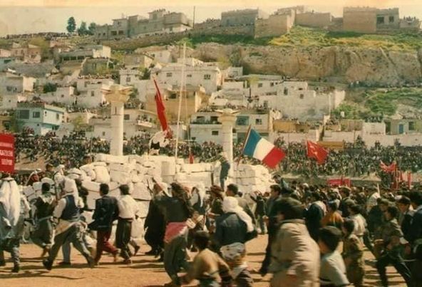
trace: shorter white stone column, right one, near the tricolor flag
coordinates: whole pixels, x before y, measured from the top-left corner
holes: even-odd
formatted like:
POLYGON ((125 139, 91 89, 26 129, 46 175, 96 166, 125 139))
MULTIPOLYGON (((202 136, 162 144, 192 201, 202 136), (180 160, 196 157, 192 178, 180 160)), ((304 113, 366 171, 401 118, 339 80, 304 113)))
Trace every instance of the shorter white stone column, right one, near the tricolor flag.
POLYGON ((239 112, 232 109, 217 110, 217 112, 220 113, 218 121, 222 124, 222 150, 233 166, 233 127, 239 112))

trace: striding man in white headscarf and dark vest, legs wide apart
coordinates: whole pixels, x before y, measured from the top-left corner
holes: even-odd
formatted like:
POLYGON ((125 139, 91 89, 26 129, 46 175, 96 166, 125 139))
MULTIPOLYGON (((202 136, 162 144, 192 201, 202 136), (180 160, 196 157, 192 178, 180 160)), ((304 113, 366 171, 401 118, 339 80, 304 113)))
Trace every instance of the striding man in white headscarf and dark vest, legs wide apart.
POLYGON ((48 259, 43 260, 43 266, 46 267, 47 270, 51 270, 60 247, 66 242, 71 242, 73 246, 81 252, 83 257, 85 257, 88 265, 93 268, 94 259, 82 239, 83 227, 81 226, 78 208, 78 189, 73 179, 64 178, 63 192, 64 195, 58 201, 53 212, 54 218, 58 220, 54 244, 51 247, 48 259))

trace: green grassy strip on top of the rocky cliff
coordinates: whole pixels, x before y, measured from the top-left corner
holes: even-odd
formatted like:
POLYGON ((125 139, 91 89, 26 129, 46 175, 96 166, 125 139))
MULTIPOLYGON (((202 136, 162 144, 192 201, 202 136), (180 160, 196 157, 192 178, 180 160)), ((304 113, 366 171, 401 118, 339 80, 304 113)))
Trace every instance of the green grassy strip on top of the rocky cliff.
POLYGON ((294 26, 292 30, 269 41, 275 46, 353 46, 361 48, 386 48, 411 51, 422 48, 422 35, 396 33, 394 35, 360 34, 354 32, 330 32, 317 28, 294 26))

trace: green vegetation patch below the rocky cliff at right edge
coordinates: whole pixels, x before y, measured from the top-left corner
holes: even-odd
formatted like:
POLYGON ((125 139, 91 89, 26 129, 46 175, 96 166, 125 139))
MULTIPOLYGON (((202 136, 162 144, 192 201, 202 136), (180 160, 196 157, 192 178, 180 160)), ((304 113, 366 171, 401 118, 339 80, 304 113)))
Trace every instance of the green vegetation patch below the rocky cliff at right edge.
MULTIPOLYGON (((407 105, 422 111, 421 88, 397 88, 393 90, 371 90, 363 95, 364 100, 358 103, 347 101, 334 110, 339 116, 344 112, 345 118, 359 119, 376 115, 394 115, 398 105, 407 105)), ((349 99, 351 100, 351 99, 349 99)))

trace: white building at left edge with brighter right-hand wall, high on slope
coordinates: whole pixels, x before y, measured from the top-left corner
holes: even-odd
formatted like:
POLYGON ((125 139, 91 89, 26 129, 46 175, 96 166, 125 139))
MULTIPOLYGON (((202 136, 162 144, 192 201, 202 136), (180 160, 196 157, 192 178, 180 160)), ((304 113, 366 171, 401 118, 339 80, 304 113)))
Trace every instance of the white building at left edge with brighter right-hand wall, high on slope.
POLYGON ((0 95, 32 92, 35 78, 14 73, 0 73, 0 95))

